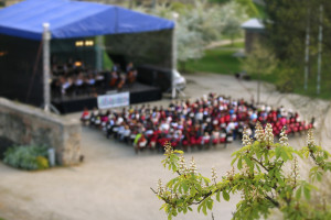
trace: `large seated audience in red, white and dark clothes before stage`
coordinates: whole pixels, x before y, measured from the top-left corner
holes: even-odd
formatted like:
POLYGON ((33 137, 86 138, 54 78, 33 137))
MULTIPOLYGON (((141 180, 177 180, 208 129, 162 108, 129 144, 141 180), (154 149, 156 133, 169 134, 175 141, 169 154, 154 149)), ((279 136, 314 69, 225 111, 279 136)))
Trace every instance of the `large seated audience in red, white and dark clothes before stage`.
POLYGON ((105 112, 87 109, 82 114, 82 123, 100 129, 108 139, 132 144, 136 152, 142 148, 161 150, 164 142, 173 147, 210 147, 242 139, 246 129, 254 138, 256 122, 270 123, 275 136, 282 128, 287 134, 311 129, 314 123, 302 121, 297 112, 284 107, 249 103, 243 99, 210 94, 195 101, 174 101, 168 108, 142 105, 105 112))

